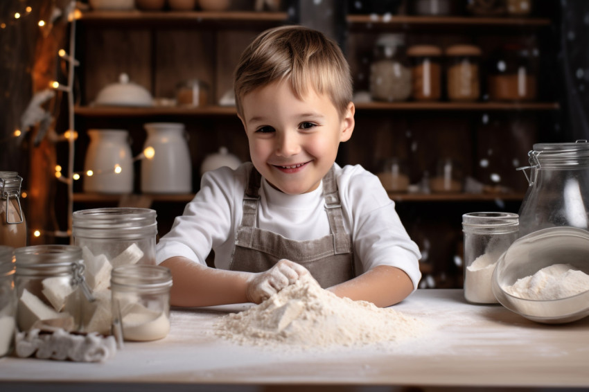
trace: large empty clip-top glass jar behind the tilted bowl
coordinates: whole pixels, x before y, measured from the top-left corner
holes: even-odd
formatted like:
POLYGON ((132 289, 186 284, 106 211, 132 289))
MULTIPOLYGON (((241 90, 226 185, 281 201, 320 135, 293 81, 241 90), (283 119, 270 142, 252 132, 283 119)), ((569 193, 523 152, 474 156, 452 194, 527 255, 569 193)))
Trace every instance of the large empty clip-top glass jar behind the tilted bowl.
POLYGON ((523 170, 520 236, 553 226, 589 230, 589 143, 537 143, 523 170), (529 173, 527 172, 529 170, 529 173))

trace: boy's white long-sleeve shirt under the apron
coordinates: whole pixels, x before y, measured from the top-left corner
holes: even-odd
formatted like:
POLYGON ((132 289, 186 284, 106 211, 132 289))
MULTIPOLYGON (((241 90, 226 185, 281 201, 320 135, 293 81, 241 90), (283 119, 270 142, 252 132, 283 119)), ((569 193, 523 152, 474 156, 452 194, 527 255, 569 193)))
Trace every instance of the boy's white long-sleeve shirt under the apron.
MULTIPOLYGON (((200 191, 177 217, 172 229, 156 247, 156 260, 184 256, 206 265, 211 249, 215 267, 229 269, 236 232, 243 214, 247 166, 224 167, 206 172, 200 191)), ((417 245, 395 211, 394 202, 378 177, 362 166, 335 166, 344 226, 351 234, 357 275, 390 265, 405 271, 416 289, 421 273, 417 245)), ((314 240, 331 234, 324 209, 323 186, 301 195, 287 195, 262 179, 257 227, 279 233, 291 240, 314 240)))

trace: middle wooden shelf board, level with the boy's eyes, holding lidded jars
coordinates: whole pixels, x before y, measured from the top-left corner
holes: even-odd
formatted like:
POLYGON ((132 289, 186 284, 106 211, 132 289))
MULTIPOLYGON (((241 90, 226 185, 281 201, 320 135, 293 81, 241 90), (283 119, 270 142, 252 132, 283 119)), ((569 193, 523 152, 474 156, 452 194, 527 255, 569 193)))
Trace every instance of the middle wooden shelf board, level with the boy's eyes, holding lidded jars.
MULTIPOLYGON (((396 102, 358 103, 358 111, 371 110, 452 110, 452 111, 545 111, 558 110, 558 103, 453 103, 453 102, 396 102)), ((77 106, 74 112, 85 117, 149 117, 149 116, 235 116, 233 106, 207 105, 202 107, 114 107, 77 106)))

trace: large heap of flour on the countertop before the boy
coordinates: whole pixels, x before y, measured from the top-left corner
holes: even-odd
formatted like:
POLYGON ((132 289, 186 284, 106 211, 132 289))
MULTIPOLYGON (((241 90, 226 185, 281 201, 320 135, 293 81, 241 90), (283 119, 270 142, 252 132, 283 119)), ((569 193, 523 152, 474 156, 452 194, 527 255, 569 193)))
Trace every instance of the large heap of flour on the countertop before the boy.
POLYGON ((364 346, 419 335, 413 317, 365 301, 341 299, 301 278, 259 305, 222 317, 216 335, 238 344, 299 347, 364 346))

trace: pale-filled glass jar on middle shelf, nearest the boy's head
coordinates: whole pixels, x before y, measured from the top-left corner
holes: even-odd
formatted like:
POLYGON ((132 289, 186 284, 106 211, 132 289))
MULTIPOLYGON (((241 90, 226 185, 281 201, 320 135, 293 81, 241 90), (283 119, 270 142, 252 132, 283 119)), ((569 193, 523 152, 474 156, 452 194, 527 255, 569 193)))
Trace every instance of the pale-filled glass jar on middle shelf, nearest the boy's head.
POLYGON ((370 66, 370 94, 373 100, 398 102, 411 96, 411 69, 405 53, 405 36, 380 35, 370 66))

